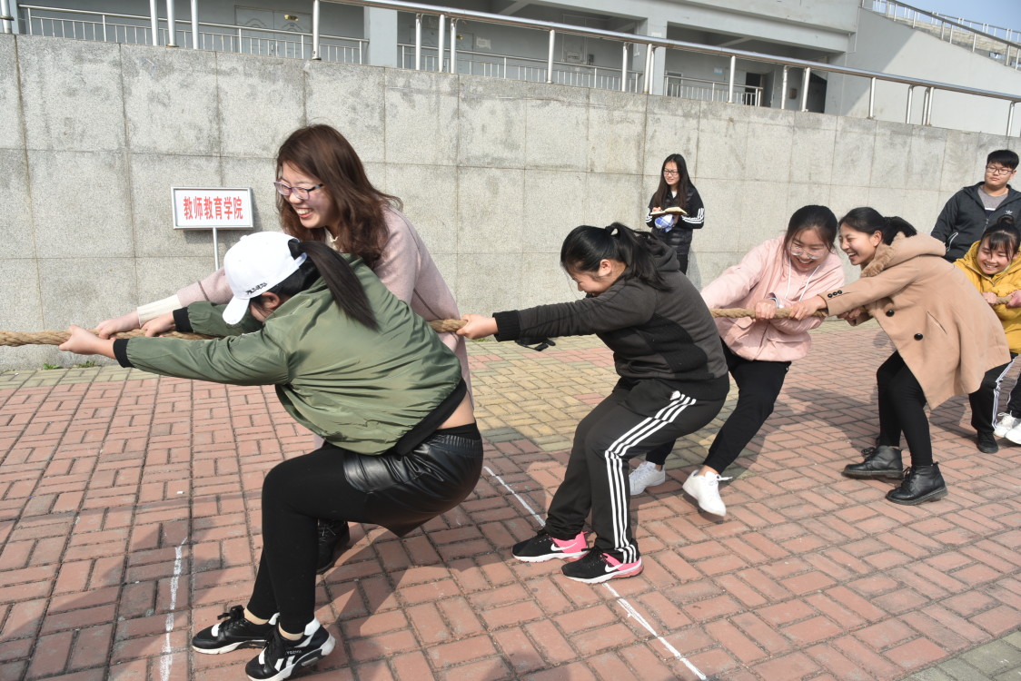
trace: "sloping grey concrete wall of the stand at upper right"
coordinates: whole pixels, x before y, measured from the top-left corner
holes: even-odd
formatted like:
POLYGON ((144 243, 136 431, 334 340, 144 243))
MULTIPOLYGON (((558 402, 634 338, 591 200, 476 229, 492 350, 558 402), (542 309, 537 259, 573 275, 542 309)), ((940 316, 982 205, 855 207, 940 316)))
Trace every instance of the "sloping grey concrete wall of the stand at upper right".
MULTIPOLYGON (((981 90, 1021 93, 1021 71, 864 9, 860 12, 854 47, 834 63, 981 90), (938 70, 933 70, 933 64, 938 64, 938 70)), ((921 121, 922 99, 923 88, 916 88, 912 99, 913 123, 921 121)), ((877 84, 876 118, 904 121, 907 103, 908 86, 877 84)), ((932 125, 957 130, 1006 132, 1009 105, 1002 100, 936 92, 932 103, 932 125)), ((841 115, 868 115, 868 81, 830 76, 826 110, 841 115)), ((1016 136, 1021 131, 1021 113, 1016 112, 1014 117, 1012 133, 1016 136)))

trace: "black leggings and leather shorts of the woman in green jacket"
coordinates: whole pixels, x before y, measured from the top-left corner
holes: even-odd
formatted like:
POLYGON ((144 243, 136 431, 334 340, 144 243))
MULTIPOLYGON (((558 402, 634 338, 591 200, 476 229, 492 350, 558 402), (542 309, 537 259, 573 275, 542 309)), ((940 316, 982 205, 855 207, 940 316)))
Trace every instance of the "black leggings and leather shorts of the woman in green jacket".
POLYGON ((482 471, 477 429, 474 435, 437 431, 402 457, 367 456, 327 443, 274 467, 262 483, 262 555, 248 611, 266 620, 280 613, 284 631, 301 632, 315 612, 318 519, 404 534, 454 507, 482 471), (371 460, 352 467, 362 459, 371 460), (362 470, 388 471, 389 478, 370 479, 362 470))

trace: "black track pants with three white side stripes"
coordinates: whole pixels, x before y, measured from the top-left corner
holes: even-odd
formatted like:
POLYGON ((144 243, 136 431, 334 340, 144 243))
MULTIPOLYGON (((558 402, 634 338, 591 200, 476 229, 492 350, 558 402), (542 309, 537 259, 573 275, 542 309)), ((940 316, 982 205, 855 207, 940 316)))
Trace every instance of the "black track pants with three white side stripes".
POLYGON ((628 517, 628 459, 702 428, 724 401, 694 399, 655 380, 639 381, 630 390, 619 384, 578 424, 546 531, 573 539, 591 512, 595 548, 623 563, 637 561, 628 517))

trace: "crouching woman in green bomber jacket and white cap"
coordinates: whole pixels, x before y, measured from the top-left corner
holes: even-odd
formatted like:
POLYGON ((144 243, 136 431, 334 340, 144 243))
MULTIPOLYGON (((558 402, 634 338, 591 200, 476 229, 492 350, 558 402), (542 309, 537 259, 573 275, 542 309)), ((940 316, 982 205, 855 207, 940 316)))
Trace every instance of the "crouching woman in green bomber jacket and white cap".
POLYGON ((192 639, 198 652, 264 647, 245 671, 286 679, 333 650, 314 617, 317 519, 382 525, 402 536, 465 499, 482 439, 457 357, 358 258, 275 232, 224 258, 233 299, 104 340, 79 327, 60 349, 124 367, 237 385, 276 385, 294 419, 326 440, 277 465, 262 485, 262 555, 247 605, 192 639))

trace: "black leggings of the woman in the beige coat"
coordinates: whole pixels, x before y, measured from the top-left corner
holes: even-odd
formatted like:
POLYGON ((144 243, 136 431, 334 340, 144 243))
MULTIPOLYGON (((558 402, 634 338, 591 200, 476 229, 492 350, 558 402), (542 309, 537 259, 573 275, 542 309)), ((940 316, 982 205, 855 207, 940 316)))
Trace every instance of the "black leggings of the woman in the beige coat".
POLYGON ((879 439, 877 445, 901 446, 904 434, 911 450, 911 465, 932 465, 932 439, 925 417, 925 393, 900 352, 876 371, 879 388, 879 439))

